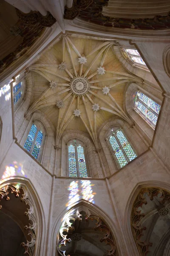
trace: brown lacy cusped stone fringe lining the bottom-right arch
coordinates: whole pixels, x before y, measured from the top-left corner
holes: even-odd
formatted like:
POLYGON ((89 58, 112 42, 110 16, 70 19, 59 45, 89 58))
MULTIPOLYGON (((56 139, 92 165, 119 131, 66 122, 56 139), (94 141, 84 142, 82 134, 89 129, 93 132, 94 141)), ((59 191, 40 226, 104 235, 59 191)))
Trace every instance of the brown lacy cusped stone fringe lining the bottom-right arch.
POLYGON ((132 212, 131 212, 131 229, 133 232, 133 237, 136 241, 136 245, 139 249, 140 255, 142 255, 142 256, 146 256, 147 252, 149 251, 149 247, 152 246, 152 243, 150 243, 150 241, 141 241, 140 240, 143 231, 146 230, 146 227, 142 227, 139 224, 141 219, 144 218, 145 214, 142 213, 140 210, 138 210, 138 208, 142 207, 143 204, 147 204, 146 198, 144 197, 145 193, 147 193, 147 195, 151 201, 153 201, 154 197, 161 195, 160 196, 160 198, 161 198, 160 204, 164 204, 165 202, 170 200, 170 193, 163 189, 144 188, 139 192, 136 200, 134 201, 132 212))

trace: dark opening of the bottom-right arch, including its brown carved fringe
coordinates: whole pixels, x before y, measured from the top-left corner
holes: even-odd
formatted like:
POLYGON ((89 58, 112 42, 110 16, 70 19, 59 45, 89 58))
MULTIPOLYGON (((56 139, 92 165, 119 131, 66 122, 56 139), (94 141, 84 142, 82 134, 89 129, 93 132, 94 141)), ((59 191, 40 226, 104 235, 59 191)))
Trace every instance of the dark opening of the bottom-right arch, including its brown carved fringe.
POLYGON ((164 255, 170 241, 170 192, 141 189, 133 203, 131 229, 141 256, 164 255))

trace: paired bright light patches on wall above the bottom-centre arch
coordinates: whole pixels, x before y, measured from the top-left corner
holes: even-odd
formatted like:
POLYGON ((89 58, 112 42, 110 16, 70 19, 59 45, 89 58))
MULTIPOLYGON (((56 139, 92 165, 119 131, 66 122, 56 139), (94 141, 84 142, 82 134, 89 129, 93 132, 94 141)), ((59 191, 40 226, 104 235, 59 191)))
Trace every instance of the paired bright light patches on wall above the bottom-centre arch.
POLYGON ((81 180, 80 182, 81 185, 79 186, 78 180, 72 181, 70 183, 70 186, 68 187, 68 190, 70 191, 68 197, 69 201, 65 205, 66 207, 68 207, 68 209, 71 207, 72 204, 75 204, 77 201, 79 201, 80 198, 94 204, 94 195, 96 195, 96 193, 94 193, 92 189, 92 186, 94 186, 94 184, 91 184, 90 180, 81 180))

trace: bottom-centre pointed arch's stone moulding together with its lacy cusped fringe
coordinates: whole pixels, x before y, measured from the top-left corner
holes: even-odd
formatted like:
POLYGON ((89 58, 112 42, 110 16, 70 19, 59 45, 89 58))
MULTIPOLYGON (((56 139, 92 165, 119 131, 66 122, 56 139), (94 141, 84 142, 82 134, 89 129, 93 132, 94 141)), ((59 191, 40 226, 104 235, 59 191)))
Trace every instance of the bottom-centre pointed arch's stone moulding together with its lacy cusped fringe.
POLYGON ((63 236, 62 232, 65 230, 72 229, 70 220, 74 221, 79 219, 81 221, 80 212, 83 211, 86 213, 86 221, 94 220, 96 222, 95 230, 105 231, 104 237, 101 239, 101 242, 104 241, 105 244, 110 245, 110 250, 108 254, 110 256, 124 255, 123 242, 121 234, 119 233, 119 228, 116 223, 114 223, 111 218, 99 207, 94 204, 89 203, 88 201, 81 200, 76 204, 72 205, 71 209, 65 209, 60 214, 59 217, 55 220, 52 228, 52 238, 51 239, 51 255, 57 255, 57 249, 60 255, 65 255, 62 253, 59 248, 67 244, 68 239, 67 235, 63 236), (104 220, 104 221, 103 221, 104 220), (58 248, 57 248, 58 244, 58 248))

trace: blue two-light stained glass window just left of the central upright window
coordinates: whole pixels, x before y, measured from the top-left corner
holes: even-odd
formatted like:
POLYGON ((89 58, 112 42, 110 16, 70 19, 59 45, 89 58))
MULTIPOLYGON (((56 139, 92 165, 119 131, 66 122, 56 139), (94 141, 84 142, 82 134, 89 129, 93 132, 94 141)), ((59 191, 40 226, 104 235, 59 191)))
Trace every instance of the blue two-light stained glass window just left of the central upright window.
POLYGON ((44 134, 40 128, 32 124, 24 148, 35 158, 40 159, 44 134))

